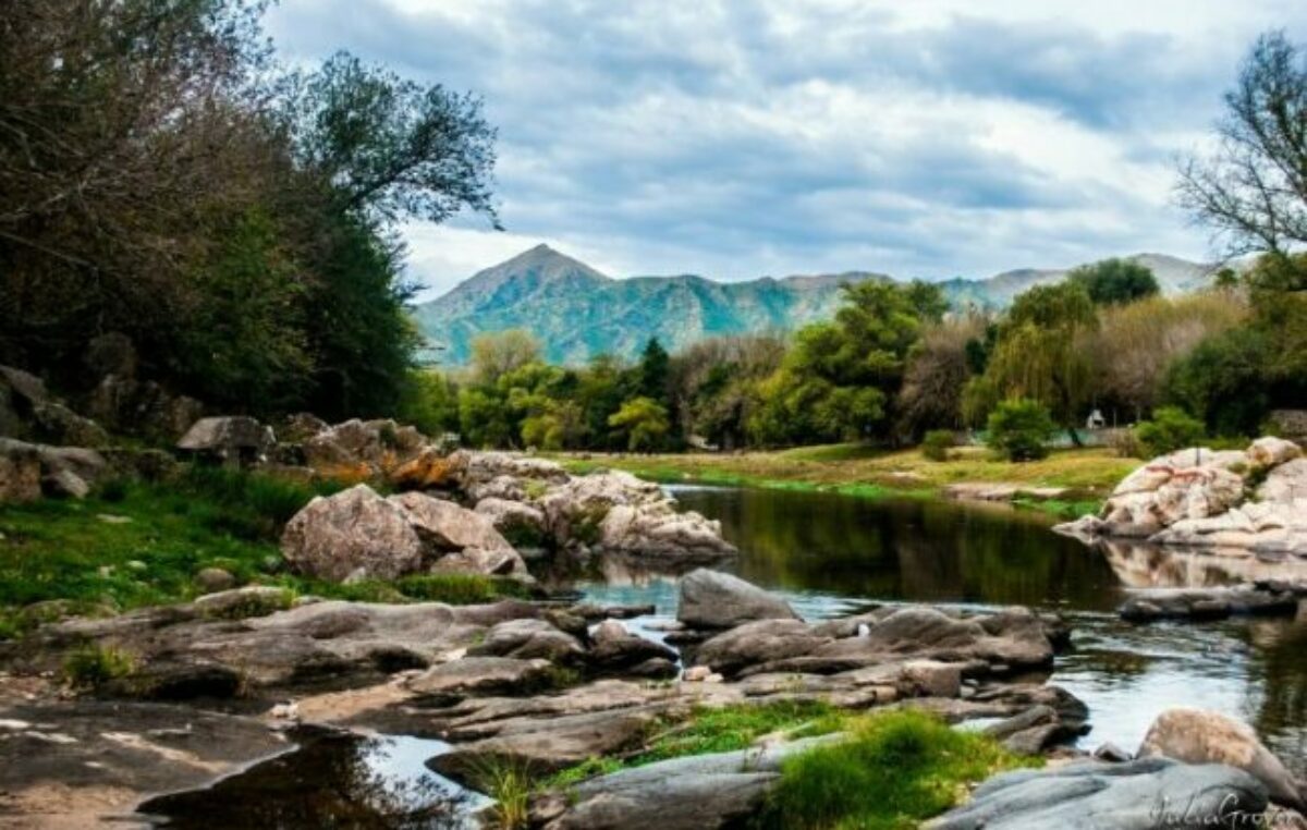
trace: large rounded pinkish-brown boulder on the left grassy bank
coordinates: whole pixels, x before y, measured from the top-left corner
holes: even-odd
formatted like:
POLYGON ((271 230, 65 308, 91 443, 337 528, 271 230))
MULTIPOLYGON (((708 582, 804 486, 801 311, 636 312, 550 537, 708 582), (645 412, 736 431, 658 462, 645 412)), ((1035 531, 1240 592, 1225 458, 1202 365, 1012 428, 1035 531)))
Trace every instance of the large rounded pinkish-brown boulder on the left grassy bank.
POLYGON ((281 552, 297 571, 344 582, 395 579, 421 570, 423 544, 409 512, 366 484, 308 502, 281 536, 281 552))

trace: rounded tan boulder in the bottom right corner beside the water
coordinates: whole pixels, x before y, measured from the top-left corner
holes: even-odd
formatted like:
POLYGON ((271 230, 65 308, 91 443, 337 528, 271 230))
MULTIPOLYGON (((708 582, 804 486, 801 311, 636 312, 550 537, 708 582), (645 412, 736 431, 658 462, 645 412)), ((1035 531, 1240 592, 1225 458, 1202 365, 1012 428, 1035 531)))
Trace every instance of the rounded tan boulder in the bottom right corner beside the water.
POLYGON ((1303 788, 1244 723, 1200 708, 1168 708, 1153 722, 1140 758, 1166 757, 1184 763, 1223 763, 1260 780, 1270 799, 1303 809, 1303 788))

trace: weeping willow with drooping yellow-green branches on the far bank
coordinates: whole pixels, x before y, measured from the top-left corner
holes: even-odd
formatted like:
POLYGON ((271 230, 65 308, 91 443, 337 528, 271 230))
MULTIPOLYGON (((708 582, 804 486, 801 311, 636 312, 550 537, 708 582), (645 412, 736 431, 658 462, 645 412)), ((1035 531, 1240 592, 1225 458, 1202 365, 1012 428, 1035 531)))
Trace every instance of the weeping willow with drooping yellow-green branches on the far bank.
POLYGON ((1038 285, 1017 297, 999 327, 985 374, 965 393, 970 413, 988 412, 1000 400, 1031 399, 1078 442, 1076 426, 1094 370, 1086 336, 1097 324, 1094 303, 1080 282, 1038 285))

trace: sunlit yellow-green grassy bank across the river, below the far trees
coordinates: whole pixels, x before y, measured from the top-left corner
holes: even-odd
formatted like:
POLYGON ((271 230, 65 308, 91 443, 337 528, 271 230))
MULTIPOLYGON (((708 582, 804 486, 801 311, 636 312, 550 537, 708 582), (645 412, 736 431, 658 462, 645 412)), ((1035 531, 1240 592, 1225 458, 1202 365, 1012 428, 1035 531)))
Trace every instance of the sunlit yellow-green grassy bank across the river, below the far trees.
POLYGON ((1004 461, 982 447, 951 451, 946 461, 932 461, 919 450, 885 451, 861 444, 800 447, 775 452, 558 455, 576 473, 604 467, 625 469, 656 481, 827 490, 863 497, 935 498, 951 484, 995 482, 1018 488, 1067 488, 1050 501, 1018 499, 1018 506, 1057 515, 1095 510, 1127 473, 1140 464, 1112 450, 1060 450, 1039 461, 1004 461))

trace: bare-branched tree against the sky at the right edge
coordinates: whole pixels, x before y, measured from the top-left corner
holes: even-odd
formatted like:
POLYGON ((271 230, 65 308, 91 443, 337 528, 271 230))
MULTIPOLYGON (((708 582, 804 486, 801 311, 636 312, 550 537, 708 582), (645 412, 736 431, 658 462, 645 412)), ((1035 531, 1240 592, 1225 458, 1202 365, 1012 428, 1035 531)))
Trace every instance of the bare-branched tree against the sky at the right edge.
POLYGON ((1263 34, 1225 108, 1217 150, 1180 169, 1182 205, 1231 256, 1307 244, 1307 55, 1283 31, 1263 34))

